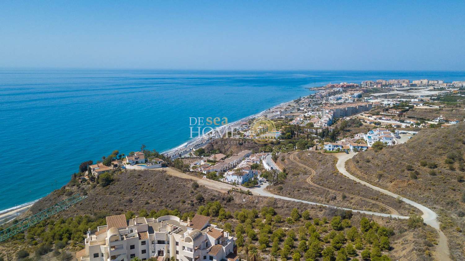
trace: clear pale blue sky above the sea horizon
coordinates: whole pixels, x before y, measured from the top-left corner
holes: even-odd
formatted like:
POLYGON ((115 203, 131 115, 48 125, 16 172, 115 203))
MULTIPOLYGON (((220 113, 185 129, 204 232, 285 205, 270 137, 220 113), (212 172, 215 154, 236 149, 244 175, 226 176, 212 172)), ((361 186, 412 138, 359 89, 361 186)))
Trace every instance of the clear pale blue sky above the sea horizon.
POLYGON ((0 67, 465 70, 465 1, 0 1, 0 67))

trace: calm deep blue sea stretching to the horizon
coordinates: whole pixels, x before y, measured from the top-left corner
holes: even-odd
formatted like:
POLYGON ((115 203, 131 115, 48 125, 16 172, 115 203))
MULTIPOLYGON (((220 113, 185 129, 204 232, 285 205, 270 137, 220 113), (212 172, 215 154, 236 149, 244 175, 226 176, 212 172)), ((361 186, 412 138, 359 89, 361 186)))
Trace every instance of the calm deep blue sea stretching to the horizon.
POLYGON ((465 80, 464 72, 0 69, 0 209, 66 184, 80 162, 190 138, 189 117, 229 122, 329 82, 465 80))

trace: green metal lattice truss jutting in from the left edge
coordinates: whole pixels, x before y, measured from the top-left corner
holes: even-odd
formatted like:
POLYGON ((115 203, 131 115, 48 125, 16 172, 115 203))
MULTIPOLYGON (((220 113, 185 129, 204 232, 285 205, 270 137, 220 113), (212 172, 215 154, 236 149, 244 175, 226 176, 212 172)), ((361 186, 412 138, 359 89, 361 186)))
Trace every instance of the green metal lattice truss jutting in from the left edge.
POLYGON ((8 227, 0 231, 0 242, 7 240, 15 234, 21 233, 27 228, 32 227, 33 225, 39 223, 40 221, 53 216, 63 210, 66 210, 76 204, 77 202, 86 199, 87 196, 81 196, 80 194, 75 194, 74 196, 67 198, 60 203, 53 205, 52 207, 47 208, 33 216, 30 216, 26 219, 19 221, 11 227, 8 227))

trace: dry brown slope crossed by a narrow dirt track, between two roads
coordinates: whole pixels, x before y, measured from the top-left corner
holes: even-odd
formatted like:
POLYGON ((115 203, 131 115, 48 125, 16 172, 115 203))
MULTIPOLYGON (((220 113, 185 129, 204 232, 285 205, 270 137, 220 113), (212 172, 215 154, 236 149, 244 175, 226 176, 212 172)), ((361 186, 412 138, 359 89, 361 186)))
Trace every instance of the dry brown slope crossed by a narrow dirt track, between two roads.
POLYGON ((418 214, 416 208, 340 175, 336 161, 332 154, 317 151, 280 154, 277 164, 286 169, 287 179, 267 189, 275 194, 338 207, 406 216, 418 214))

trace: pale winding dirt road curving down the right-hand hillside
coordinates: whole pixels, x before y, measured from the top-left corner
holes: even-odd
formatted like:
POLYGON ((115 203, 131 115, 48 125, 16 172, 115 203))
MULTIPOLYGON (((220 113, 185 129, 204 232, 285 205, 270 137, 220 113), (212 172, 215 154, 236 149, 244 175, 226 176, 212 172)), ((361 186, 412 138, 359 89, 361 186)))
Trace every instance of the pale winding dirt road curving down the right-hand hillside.
POLYGON ((338 158, 338 162, 336 163, 336 167, 339 170, 340 173, 348 177, 349 179, 353 181, 357 181, 367 187, 370 187, 376 191, 379 191, 381 193, 384 193, 386 195, 390 195, 394 198, 400 198, 402 201, 405 203, 412 205, 413 207, 418 208, 421 212, 423 212, 423 215, 421 216, 423 218, 423 221, 427 224, 430 225, 431 227, 435 228, 438 231, 439 234, 439 240, 438 240, 438 246, 436 247, 436 254, 437 258, 440 261, 447 261, 451 260, 450 259, 450 252, 449 252, 449 247, 447 246, 447 238, 445 237, 445 234, 439 229, 439 221, 438 221, 438 214, 436 214, 434 211, 429 209, 428 207, 425 207, 415 201, 411 201, 409 199, 406 199, 398 194, 392 193, 391 191, 385 190, 380 187, 373 186, 372 184, 362 181, 358 179, 357 177, 354 177, 351 175, 346 169, 345 169, 345 162, 349 159, 351 159, 355 154, 357 153, 350 153, 350 154, 343 154, 343 153, 337 153, 338 155, 335 155, 336 158, 338 158))

